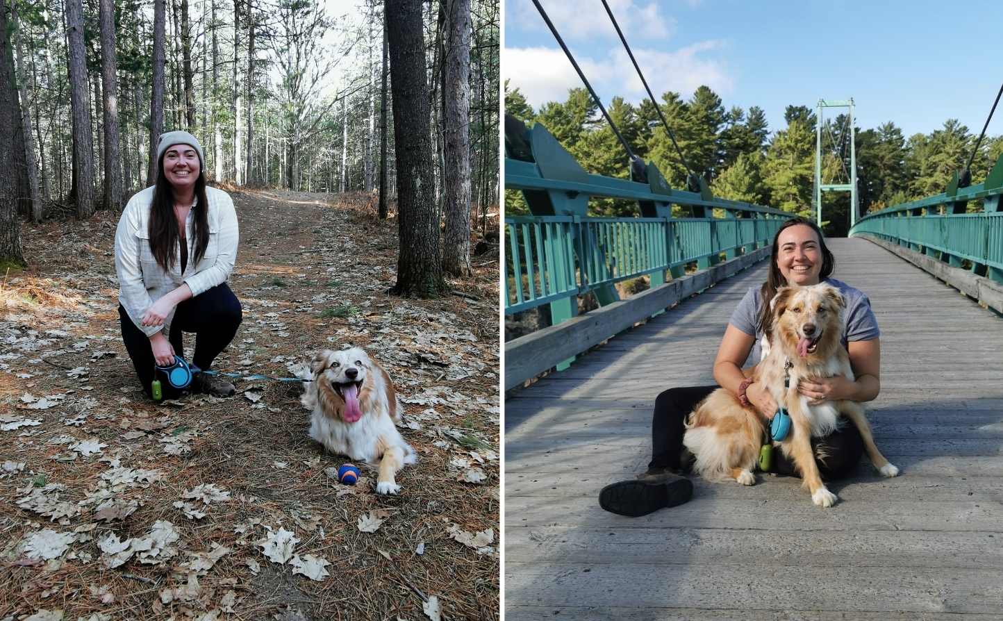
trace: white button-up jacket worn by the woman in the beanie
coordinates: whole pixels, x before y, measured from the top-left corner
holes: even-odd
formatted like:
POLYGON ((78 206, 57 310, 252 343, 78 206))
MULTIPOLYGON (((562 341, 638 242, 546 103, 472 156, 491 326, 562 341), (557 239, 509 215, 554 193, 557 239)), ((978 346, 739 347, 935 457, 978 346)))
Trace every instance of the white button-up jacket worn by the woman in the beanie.
POLYGON ((188 283, 192 296, 227 282, 237 258, 240 233, 234 202, 226 192, 206 188, 209 201, 209 245, 198 265, 195 259, 195 216, 189 212, 186 239, 189 243, 189 262, 182 273, 181 252, 176 251, 174 267, 164 272, 149 248, 149 213, 153 202, 153 188, 146 188, 129 199, 115 231, 115 273, 118 275, 118 302, 125 309, 135 327, 146 336, 161 329, 170 334, 174 311, 162 326, 141 326, 146 309, 156 300, 188 283))

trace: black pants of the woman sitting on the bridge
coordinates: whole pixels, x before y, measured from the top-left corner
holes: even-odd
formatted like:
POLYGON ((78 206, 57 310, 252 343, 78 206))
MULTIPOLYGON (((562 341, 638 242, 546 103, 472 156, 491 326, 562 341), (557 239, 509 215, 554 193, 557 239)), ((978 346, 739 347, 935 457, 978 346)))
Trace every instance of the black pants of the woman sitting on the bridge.
MULTIPOLYGON (((651 462, 648 468, 683 470, 683 421, 696 404, 717 389, 713 386, 669 388, 655 399, 651 420, 651 462)), ((857 425, 845 422, 825 437, 811 438, 815 461, 822 479, 840 479, 853 473, 864 452, 864 439, 857 425)), ((797 472, 779 450, 773 451, 773 470, 781 475, 796 477, 797 472)))

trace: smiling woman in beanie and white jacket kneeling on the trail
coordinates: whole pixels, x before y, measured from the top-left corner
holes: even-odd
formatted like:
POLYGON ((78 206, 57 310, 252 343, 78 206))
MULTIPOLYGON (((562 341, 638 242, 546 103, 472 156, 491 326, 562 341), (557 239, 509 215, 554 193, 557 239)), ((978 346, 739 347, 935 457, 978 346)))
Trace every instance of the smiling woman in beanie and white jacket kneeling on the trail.
MULTIPOLYGON (((233 200, 206 186, 202 146, 191 133, 161 134, 156 161, 156 184, 129 200, 115 232, 122 341, 147 394, 154 364, 184 355, 183 332, 196 333, 190 362, 206 370, 242 319, 227 286, 240 237, 233 200)), ((205 374, 192 387, 234 393, 232 383, 205 374)), ((165 398, 178 394, 170 385, 162 389, 165 398)))

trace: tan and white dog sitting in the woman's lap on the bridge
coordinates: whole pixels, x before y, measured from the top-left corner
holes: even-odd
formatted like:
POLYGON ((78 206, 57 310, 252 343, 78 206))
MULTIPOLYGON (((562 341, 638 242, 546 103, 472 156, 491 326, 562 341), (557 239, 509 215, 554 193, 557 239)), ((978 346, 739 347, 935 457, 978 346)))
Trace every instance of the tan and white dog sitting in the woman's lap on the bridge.
MULTIPOLYGON (((844 375, 854 379, 850 356, 841 342, 846 302, 831 285, 781 287, 771 304, 772 330, 769 353, 752 371, 755 382, 769 388, 778 405, 787 408, 791 430, 773 446, 790 458, 811 494, 811 501, 831 507, 837 496, 829 492, 818 474, 811 448, 812 436, 835 430, 839 416, 849 418, 861 432, 864 446, 874 467, 885 477, 895 477, 899 469, 890 463, 875 445, 864 407, 856 401, 827 401, 818 405, 797 392, 797 381, 808 377, 844 375), (789 388, 784 388, 784 368, 789 369, 789 388)), ((765 343, 764 343, 765 344, 765 343)), ((763 438, 769 439, 768 421, 753 406, 718 388, 699 403, 686 420, 683 444, 696 457, 693 470, 713 481, 733 479, 751 486, 752 471, 763 438)))

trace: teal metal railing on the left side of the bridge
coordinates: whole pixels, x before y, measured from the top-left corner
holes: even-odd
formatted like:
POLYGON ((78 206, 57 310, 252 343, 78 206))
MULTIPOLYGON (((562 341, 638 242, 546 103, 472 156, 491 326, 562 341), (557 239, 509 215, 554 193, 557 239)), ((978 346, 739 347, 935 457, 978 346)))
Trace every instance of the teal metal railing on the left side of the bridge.
MULTIPOLYGON (((590 176, 590 181, 596 178, 608 179, 590 176)), ((548 181, 538 178, 533 189, 548 188, 548 181)), ((643 184, 610 181, 615 183, 588 188, 579 184, 576 192, 588 192, 590 197, 669 199, 650 195, 643 184), (637 188, 625 189, 625 184, 637 188)), ((508 175, 506 188, 525 189, 508 175)), ((705 268, 718 263, 721 255, 733 258, 767 246, 780 224, 791 217, 786 212, 735 201, 704 201, 697 193, 673 194, 673 203, 700 211, 716 208, 723 210, 723 217, 506 218, 506 313, 515 314, 644 275, 653 275, 656 283, 665 282, 666 271, 681 276, 688 264, 705 268)))

